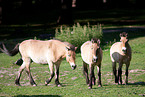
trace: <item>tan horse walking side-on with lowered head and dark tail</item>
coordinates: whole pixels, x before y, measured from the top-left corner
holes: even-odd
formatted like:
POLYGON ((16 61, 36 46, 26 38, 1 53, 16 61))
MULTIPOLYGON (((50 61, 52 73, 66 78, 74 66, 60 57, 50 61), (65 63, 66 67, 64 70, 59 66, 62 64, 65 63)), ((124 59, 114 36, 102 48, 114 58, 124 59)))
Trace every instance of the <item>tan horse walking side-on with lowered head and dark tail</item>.
POLYGON ((51 76, 46 80, 45 85, 49 84, 54 77, 54 67, 55 67, 55 84, 61 86, 59 82, 59 67, 63 58, 66 57, 67 62, 71 65, 72 69, 76 68, 75 64, 75 50, 77 47, 73 46, 68 42, 61 42, 59 40, 25 40, 22 43, 16 45, 12 51, 8 51, 4 44, 3 49, 4 53, 14 56, 20 52, 22 56, 23 63, 19 68, 18 76, 16 77, 15 84, 20 85, 21 73, 26 67, 26 72, 29 76, 30 83, 33 86, 36 86, 31 73, 30 73, 30 63, 31 61, 40 64, 49 64, 49 69, 51 76))

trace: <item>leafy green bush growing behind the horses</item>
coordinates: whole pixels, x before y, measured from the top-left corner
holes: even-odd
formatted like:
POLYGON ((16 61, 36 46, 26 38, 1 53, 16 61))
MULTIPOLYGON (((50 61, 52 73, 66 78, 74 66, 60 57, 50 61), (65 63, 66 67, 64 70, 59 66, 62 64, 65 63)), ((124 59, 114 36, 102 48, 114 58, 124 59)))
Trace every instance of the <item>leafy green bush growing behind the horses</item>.
MULTIPOLYGON (((74 46, 80 48, 80 46, 91 38, 102 38, 101 25, 88 25, 81 26, 79 23, 74 24, 73 27, 61 26, 56 28, 55 38, 67 41, 74 46)), ((79 51, 80 49, 77 49, 79 51)))

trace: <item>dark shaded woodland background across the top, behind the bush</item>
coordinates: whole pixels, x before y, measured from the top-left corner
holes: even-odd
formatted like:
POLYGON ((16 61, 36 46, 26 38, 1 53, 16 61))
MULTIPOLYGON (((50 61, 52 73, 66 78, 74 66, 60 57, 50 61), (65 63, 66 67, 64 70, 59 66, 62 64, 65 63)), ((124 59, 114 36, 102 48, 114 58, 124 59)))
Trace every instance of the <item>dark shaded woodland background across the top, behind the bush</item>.
POLYGON ((144 25, 144 0, 0 0, 0 40, 55 35, 62 24, 144 25))

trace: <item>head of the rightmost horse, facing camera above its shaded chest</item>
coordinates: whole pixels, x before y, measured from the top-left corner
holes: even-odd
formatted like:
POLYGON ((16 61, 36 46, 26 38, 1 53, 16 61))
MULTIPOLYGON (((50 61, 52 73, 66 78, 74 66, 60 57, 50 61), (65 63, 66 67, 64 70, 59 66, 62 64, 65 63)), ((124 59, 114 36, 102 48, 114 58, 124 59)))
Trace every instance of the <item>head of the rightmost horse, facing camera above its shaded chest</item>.
POLYGON ((127 47, 126 47, 126 44, 128 43, 128 39, 127 39, 127 33, 126 32, 123 32, 123 33, 120 33, 120 41, 122 42, 122 52, 124 54, 126 54, 127 52, 127 47))

